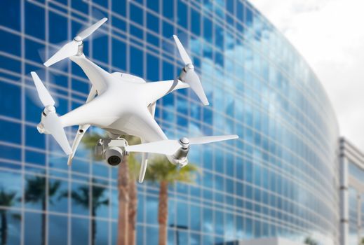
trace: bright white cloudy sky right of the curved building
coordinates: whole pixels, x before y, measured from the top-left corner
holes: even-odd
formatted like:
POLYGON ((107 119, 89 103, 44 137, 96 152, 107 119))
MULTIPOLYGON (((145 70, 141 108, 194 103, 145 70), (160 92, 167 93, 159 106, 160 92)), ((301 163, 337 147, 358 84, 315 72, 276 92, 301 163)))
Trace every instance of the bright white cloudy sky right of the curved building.
POLYGON ((251 0, 306 59, 340 134, 364 151, 364 1, 251 0))

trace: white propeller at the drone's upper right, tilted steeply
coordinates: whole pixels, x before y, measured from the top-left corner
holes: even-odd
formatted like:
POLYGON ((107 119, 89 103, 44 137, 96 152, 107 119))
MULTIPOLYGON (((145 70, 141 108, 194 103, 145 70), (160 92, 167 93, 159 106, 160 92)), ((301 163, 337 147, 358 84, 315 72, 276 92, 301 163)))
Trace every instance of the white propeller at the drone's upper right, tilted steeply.
POLYGON ((194 71, 194 65, 192 64, 192 60, 187 54, 186 50, 183 48, 180 39, 178 39, 176 35, 173 35, 173 38, 175 39, 178 52, 180 52, 181 58, 184 64, 186 65, 184 66, 184 71, 186 72, 186 76, 183 78, 183 81, 189 84, 191 89, 194 90, 197 97, 201 100, 202 104, 207 106, 209 104, 208 98, 206 97, 206 94, 203 91, 200 78, 198 78, 196 71, 194 71))

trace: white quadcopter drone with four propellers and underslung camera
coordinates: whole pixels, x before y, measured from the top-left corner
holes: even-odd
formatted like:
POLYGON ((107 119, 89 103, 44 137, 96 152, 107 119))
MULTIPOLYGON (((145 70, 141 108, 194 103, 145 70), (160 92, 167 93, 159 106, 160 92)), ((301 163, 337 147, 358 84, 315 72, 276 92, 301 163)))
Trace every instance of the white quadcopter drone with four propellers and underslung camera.
POLYGON ((154 119, 158 99, 175 90, 189 87, 203 105, 209 104, 191 58, 177 36, 173 36, 185 64, 177 78, 147 83, 142 78, 127 73, 109 73, 83 54, 83 40, 106 21, 107 18, 103 18, 79 32, 72 41, 62 46, 44 63, 48 67, 69 58, 79 65, 92 85, 85 104, 58 116, 50 92, 39 76, 34 71, 31 72, 36 92, 44 106, 37 129, 41 134, 52 135, 62 150, 69 155, 67 165, 72 164, 76 149, 91 125, 107 132, 107 139, 100 139, 97 142, 95 154, 105 159, 109 165, 119 165, 123 157, 129 153, 142 153, 138 178, 140 183, 144 180, 149 153, 166 155, 172 164, 184 167, 188 164, 187 155, 191 145, 238 138, 237 135, 223 135, 168 139, 154 119), (64 128, 75 125, 78 125, 79 129, 71 147, 64 128), (140 137, 141 144, 129 146, 122 135, 140 137))

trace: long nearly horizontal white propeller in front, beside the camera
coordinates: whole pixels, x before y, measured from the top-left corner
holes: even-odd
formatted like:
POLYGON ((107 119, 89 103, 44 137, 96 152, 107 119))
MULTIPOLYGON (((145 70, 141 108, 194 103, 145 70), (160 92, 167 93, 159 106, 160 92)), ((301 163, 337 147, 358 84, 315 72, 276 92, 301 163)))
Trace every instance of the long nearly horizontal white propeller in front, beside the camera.
POLYGON ((126 146, 126 151, 173 155, 180 148, 188 148, 189 145, 208 144, 217 141, 226 141, 229 139, 238 139, 238 136, 236 134, 233 134, 233 135, 222 135, 222 136, 195 137, 191 139, 182 138, 180 140, 166 139, 163 141, 154 141, 134 146, 126 146))

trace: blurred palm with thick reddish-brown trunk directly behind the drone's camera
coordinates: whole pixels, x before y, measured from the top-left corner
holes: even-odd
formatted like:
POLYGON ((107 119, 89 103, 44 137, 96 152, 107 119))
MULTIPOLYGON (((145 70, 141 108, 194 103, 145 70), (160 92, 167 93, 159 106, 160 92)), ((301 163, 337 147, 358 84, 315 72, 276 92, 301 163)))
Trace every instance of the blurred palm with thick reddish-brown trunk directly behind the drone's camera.
MULTIPOLYGON (((122 136, 128 144, 138 144, 140 139, 133 136, 122 136)), ((93 151, 100 134, 86 134, 83 145, 93 151)), ((118 169, 119 217, 118 217, 118 245, 135 244, 135 223, 137 214, 137 162, 133 154, 123 157, 118 169), (130 171, 131 169, 131 171, 130 171)))

